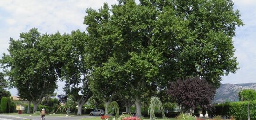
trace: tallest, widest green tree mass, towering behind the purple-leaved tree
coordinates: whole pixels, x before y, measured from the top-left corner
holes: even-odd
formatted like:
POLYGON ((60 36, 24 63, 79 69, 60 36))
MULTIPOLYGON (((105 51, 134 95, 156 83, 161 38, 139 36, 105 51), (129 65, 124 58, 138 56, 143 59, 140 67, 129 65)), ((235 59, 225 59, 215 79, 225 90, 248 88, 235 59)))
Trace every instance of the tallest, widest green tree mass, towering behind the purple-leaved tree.
POLYGON ((101 76, 95 83, 108 82, 102 91, 109 93, 113 83, 129 86, 137 116, 141 93, 166 89, 170 81, 188 76, 218 87, 221 76, 238 69, 232 37, 243 23, 231 0, 139 1, 88 9, 84 19, 92 75, 101 76))

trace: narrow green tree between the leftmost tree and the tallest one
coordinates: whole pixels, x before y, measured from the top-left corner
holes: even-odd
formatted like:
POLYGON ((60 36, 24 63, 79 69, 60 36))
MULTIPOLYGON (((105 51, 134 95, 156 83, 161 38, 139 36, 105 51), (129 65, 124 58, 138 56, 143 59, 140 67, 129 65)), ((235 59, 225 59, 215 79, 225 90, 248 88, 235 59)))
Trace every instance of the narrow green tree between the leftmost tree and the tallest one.
POLYGON ((58 42, 61 44, 58 54, 62 64, 59 73, 66 83, 63 89, 77 103, 77 115, 82 115, 82 106, 92 96, 88 88, 90 71, 85 61, 86 40, 85 32, 77 30, 72 31, 71 34, 64 34, 58 42))

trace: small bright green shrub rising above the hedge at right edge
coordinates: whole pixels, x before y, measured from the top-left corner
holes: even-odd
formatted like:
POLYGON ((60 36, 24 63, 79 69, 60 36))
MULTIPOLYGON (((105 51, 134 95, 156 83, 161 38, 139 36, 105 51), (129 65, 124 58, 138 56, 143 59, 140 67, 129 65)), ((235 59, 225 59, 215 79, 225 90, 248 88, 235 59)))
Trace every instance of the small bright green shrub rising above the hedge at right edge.
POLYGON ((254 101, 256 100, 256 90, 244 89, 238 93, 240 101, 254 101))

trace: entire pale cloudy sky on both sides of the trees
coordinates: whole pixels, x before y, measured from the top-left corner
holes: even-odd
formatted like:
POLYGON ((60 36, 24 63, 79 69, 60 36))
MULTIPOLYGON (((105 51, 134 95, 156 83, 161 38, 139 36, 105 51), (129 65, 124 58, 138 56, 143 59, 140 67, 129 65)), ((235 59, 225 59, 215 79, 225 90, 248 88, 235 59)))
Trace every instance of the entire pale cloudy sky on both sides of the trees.
MULTIPOLYGON (((9 39, 18 39, 20 33, 38 28, 41 33, 70 33, 85 31, 83 19, 86 8, 99 9, 104 2, 108 5, 116 0, 0 0, 0 58, 8 53, 9 39)), ((256 0, 233 0, 234 9, 241 14, 243 27, 236 29, 233 38, 235 56, 239 67, 235 74, 222 77, 221 83, 256 82, 256 0)), ((1 71, 1 69, 0 69, 1 71)), ((58 82, 58 94, 63 93, 63 82, 58 82)), ((15 88, 10 89, 17 94, 15 88)))

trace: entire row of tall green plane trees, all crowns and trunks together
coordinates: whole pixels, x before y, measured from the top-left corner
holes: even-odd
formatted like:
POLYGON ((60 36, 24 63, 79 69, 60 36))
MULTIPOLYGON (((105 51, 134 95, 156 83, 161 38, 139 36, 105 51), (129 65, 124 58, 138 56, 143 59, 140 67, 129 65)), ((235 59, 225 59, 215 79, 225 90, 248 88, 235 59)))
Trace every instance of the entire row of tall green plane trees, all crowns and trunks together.
POLYGON ((200 77, 218 87, 221 76, 238 69, 232 37, 243 23, 231 0, 118 0, 86 13, 86 32, 33 28, 10 39, 0 62, 33 111, 60 78, 77 114, 94 95, 106 108, 114 96, 127 110, 134 101, 140 117, 145 97, 167 100, 169 82, 200 77))

